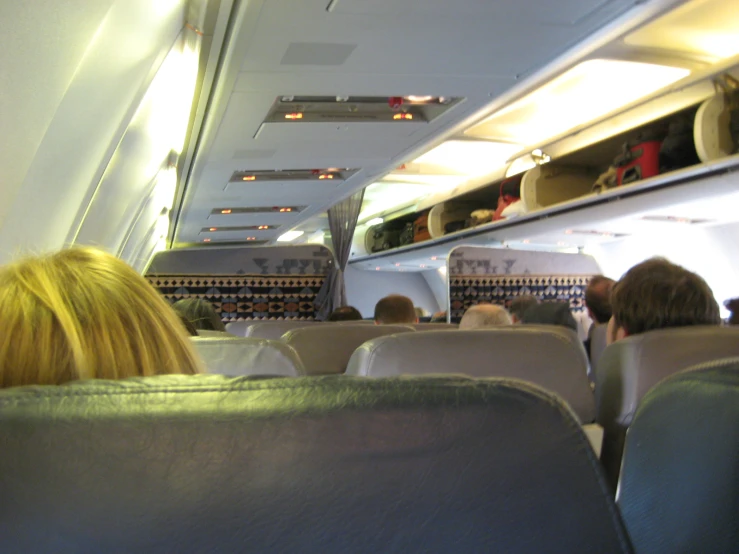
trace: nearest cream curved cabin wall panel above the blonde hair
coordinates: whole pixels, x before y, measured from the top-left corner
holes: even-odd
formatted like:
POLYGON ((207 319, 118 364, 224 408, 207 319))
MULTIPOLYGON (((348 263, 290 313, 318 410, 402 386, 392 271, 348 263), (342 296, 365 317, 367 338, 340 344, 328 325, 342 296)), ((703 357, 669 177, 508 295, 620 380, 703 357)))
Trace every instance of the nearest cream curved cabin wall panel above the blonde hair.
MULTIPOLYGON (((185 3, 1 3, 0 18, 13 25, 0 54, 3 70, 12 71, 3 73, 0 126, 17 131, 4 133, 0 144, 0 263, 19 250, 54 250, 72 241, 182 30, 185 3)), ((116 251, 117 244, 100 245, 116 251)))

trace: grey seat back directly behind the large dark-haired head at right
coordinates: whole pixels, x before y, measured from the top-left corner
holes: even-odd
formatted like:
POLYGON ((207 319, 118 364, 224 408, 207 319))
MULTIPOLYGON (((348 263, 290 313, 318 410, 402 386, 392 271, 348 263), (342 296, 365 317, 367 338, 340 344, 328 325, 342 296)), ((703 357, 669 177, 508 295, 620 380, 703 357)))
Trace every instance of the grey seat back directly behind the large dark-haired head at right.
POLYGON ((615 488, 626 430, 639 402, 662 379, 710 360, 739 356, 739 328, 693 326, 649 331, 608 346, 595 368, 601 460, 615 488))

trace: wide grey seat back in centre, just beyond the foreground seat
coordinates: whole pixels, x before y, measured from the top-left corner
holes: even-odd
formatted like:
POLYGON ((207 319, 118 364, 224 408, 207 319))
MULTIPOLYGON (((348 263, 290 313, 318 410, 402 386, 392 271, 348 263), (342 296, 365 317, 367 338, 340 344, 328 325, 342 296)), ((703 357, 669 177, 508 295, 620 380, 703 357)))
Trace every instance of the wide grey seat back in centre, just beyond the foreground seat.
POLYGON ((367 377, 433 373, 530 381, 559 394, 583 423, 595 419, 585 350, 564 327, 511 325, 383 337, 362 345, 347 367, 347 374, 367 377))

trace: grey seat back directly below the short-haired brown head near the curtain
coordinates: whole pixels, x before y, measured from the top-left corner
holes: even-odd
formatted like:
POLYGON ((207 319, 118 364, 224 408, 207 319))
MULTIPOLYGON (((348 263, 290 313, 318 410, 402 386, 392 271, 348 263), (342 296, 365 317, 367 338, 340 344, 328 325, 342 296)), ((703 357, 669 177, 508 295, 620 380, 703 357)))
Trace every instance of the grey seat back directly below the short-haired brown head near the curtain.
POLYGON ((293 347, 308 375, 344 373, 354 351, 368 340, 411 333, 409 325, 316 325, 287 332, 282 342, 293 347))

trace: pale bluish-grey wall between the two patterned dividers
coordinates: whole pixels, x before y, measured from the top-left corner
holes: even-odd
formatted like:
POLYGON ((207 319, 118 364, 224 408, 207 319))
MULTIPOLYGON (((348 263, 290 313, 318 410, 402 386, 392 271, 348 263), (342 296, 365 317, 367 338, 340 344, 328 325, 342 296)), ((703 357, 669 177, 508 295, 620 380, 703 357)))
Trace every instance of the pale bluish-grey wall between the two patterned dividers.
POLYGON ((438 312, 439 303, 420 272, 363 271, 351 266, 344 273, 347 301, 362 317, 371 318, 375 304, 389 294, 402 294, 429 313, 438 312))

